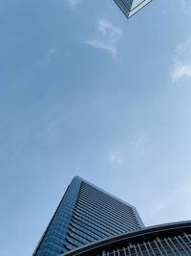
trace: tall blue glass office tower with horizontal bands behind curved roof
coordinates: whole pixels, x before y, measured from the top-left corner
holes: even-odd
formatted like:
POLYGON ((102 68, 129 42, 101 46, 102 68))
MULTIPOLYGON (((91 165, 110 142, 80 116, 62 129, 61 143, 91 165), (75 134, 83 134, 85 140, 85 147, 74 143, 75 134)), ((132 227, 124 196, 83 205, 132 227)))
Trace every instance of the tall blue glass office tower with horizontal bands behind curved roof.
POLYGON ((33 256, 58 256, 142 227, 134 206, 75 176, 33 256))

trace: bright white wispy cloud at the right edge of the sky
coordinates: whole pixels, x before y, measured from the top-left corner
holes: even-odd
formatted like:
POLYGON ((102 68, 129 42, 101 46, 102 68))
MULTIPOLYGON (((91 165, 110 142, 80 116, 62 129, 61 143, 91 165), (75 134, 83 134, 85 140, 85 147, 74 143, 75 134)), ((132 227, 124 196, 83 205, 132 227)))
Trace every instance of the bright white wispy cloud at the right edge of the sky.
POLYGON ((170 74, 173 82, 183 77, 191 77, 191 39, 180 43, 174 54, 173 69, 170 74))

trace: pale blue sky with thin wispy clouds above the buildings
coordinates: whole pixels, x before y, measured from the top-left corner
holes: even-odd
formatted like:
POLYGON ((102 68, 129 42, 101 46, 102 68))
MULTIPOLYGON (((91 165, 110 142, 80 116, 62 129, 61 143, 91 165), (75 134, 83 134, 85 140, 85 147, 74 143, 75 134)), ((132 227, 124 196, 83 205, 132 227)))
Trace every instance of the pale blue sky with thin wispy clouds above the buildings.
POLYGON ((0 255, 32 255, 74 175, 146 226, 191 219, 191 1, 0 1, 0 255))

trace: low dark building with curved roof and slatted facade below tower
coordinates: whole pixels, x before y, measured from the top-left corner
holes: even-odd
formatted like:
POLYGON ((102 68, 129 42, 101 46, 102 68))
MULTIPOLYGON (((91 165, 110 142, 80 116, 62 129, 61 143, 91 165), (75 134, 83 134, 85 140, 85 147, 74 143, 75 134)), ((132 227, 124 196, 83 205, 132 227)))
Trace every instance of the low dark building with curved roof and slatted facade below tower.
POLYGON ((191 221, 162 224, 88 244, 62 256, 191 256, 191 221))

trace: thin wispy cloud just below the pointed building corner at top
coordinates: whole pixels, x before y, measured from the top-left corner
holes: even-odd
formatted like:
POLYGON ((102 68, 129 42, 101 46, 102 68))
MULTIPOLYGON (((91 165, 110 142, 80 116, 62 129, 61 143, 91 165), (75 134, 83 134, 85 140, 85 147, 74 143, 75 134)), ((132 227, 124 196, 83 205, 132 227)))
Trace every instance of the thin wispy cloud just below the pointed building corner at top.
POLYGON ((117 41, 122 35, 122 30, 111 24, 108 20, 99 18, 96 29, 96 39, 85 40, 85 43, 99 50, 104 50, 113 57, 117 55, 117 41))

